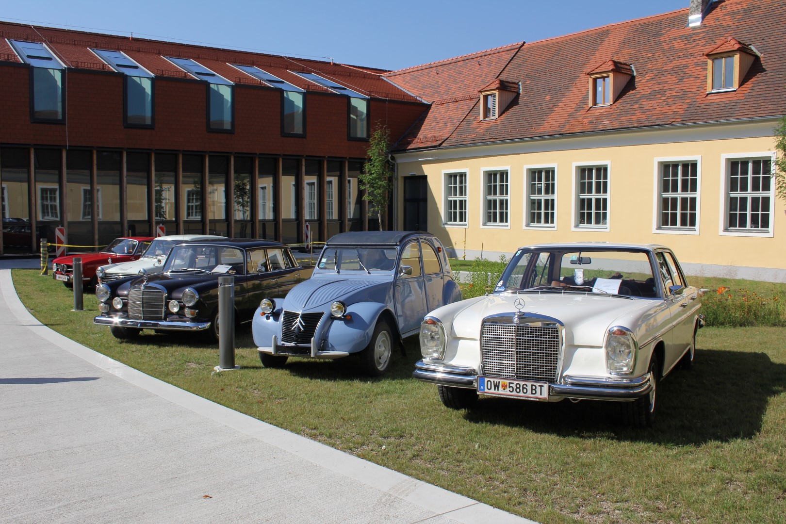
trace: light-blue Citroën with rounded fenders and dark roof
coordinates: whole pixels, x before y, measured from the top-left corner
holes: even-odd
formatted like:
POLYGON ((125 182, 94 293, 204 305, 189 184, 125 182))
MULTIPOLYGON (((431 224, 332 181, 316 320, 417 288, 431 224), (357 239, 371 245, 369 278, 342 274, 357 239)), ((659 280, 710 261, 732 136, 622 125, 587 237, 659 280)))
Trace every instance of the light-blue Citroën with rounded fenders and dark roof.
POLYGON ((309 280, 285 299, 266 297, 252 322, 269 368, 288 357, 360 354, 371 375, 416 334, 428 311, 461 300, 443 245, 431 233, 365 231, 332 236, 309 280))

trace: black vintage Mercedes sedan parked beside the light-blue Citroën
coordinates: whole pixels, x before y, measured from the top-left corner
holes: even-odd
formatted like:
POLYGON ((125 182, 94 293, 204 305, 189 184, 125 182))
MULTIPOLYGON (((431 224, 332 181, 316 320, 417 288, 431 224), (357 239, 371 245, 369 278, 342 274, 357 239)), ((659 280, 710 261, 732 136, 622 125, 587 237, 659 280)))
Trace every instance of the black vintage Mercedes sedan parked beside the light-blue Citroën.
POLYGON ((252 320, 263 297, 283 297, 311 273, 289 248, 267 240, 203 240, 172 248, 161 273, 96 288, 101 315, 118 339, 142 331, 201 331, 219 338, 219 277, 234 277, 235 321, 252 320))

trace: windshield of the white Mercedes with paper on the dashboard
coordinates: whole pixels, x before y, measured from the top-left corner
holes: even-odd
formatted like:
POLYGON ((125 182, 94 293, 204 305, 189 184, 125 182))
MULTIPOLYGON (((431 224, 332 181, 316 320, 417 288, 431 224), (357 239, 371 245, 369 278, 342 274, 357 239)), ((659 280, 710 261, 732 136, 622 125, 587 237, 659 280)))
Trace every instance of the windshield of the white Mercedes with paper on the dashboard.
POLYGON ((520 249, 494 291, 524 289, 658 296, 648 253, 635 249, 520 249))

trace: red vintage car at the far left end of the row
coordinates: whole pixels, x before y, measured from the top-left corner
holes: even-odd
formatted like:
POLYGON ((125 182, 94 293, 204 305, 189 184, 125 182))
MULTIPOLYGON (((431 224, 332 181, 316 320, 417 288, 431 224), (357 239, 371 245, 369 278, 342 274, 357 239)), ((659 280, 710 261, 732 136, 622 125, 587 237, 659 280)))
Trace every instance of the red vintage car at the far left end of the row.
POLYGON ((84 286, 95 287, 98 283, 96 269, 105 264, 129 262, 141 257, 148 248, 152 236, 120 236, 97 253, 83 253, 58 257, 52 261, 52 277, 61 280, 66 288, 74 286, 74 258, 82 258, 82 280, 84 286))

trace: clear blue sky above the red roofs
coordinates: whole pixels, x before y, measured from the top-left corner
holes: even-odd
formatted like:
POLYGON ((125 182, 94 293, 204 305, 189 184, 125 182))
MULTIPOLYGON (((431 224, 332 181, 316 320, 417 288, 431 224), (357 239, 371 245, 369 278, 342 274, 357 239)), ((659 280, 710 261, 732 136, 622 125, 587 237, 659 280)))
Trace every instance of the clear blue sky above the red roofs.
POLYGON ((4 2, 0 19, 399 69, 667 13, 689 3, 37 0, 4 2))

